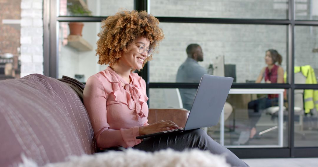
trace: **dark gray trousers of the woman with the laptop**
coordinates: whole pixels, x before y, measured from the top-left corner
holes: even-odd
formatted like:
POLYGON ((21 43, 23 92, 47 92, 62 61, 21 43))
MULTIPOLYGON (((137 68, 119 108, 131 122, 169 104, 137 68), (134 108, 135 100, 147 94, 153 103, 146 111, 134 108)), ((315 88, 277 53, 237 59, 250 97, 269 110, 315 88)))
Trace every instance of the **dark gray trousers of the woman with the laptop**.
POLYGON ((209 150, 213 154, 225 155, 226 162, 231 164, 231 166, 248 166, 230 150, 214 141, 202 129, 146 138, 133 148, 147 152, 155 152, 167 148, 171 148, 176 151, 197 148, 200 150, 209 150))

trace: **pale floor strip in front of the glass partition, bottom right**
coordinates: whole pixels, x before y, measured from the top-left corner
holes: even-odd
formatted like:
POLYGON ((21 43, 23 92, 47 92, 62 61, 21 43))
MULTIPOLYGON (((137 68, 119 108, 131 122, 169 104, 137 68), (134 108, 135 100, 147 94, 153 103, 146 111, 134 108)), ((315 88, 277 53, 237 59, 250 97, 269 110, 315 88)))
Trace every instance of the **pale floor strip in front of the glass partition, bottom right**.
POLYGON ((318 158, 242 159, 250 167, 317 167, 318 158))

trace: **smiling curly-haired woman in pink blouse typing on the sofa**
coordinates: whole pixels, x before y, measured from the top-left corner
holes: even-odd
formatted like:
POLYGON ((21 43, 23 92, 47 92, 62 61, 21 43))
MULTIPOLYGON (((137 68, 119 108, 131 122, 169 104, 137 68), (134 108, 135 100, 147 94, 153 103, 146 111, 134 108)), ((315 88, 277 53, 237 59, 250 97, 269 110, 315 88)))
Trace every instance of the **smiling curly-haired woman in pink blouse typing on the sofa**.
POLYGON ((202 129, 136 139, 136 136, 179 128, 172 121, 148 124, 146 83, 133 73, 151 60, 153 51, 164 38, 162 29, 158 19, 145 11, 121 11, 102 22, 98 36, 98 64, 109 66, 89 77, 84 89, 84 105, 98 148, 132 147, 150 152, 199 148, 225 154, 233 166, 248 166, 202 129))

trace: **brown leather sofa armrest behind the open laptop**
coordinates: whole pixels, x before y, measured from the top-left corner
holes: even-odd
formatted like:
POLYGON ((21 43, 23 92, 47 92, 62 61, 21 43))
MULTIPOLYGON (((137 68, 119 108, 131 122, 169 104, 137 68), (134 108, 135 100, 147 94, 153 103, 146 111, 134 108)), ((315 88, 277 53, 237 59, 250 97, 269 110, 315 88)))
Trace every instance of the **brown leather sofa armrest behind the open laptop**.
POLYGON ((149 108, 148 123, 157 121, 172 121, 179 127, 184 127, 189 111, 184 108, 149 108))

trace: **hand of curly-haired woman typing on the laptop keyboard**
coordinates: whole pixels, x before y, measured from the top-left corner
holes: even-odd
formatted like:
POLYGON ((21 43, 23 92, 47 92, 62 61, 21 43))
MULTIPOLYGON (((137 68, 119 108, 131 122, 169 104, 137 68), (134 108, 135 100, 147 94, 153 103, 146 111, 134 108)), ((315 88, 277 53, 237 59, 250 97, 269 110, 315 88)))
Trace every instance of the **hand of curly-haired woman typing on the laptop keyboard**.
POLYGON ((158 121, 148 126, 139 127, 139 135, 156 133, 161 131, 166 131, 169 129, 180 128, 176 123, 172 121, 158 121))

